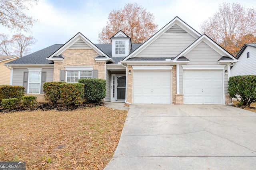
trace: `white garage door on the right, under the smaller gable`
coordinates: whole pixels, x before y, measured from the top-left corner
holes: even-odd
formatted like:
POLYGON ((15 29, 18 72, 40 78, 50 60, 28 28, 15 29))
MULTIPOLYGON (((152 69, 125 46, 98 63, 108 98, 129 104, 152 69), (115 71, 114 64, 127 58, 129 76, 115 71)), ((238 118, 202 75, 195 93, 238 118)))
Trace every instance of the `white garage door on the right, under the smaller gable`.
POLYGON ((222 70, 184 70, 184 104, 223 104, 222 70))

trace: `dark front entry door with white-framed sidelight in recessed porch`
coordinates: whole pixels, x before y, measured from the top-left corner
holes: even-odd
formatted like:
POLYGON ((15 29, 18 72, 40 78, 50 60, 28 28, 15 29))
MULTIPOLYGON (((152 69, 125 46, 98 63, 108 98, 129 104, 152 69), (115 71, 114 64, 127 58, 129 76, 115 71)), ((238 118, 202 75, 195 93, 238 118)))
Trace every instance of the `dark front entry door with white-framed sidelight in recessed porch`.
POLYGON ((112 101, 125 100, 125 74, 112 74, 112 101))

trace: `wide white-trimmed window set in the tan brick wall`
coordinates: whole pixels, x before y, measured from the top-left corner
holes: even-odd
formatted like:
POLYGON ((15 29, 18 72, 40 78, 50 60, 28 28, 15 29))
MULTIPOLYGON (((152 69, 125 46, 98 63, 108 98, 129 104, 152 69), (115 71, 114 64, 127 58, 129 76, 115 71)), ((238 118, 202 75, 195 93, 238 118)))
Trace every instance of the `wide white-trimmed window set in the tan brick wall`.
POLYGON ((82 78, 92 78, 92 71, 67 71, 67 81, 66 82, 78 82, 82 78))

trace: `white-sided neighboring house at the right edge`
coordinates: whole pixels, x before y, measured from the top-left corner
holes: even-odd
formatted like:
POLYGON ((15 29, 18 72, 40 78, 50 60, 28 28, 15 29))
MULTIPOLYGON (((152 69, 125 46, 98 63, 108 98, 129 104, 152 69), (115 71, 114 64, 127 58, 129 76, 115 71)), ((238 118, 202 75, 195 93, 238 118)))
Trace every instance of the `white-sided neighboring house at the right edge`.
POLYGON ((256 75, 256 44, 244 44, 236 59, 238 63, 231 68, 231 76, 256 75))

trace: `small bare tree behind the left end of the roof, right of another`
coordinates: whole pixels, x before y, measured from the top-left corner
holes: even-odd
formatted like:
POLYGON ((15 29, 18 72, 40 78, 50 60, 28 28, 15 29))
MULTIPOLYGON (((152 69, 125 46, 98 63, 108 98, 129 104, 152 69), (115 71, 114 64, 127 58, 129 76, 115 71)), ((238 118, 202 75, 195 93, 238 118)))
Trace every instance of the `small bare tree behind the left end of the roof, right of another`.
POLYGON ((34 37, 29 36, 26 37, 23 34, 13 35, 11 39, 11 44, 14 49, 14 54, 23 57, 24 55, 30 52, 30 46, 34 45, 37 42, 34 37))

